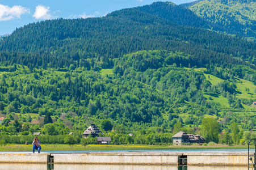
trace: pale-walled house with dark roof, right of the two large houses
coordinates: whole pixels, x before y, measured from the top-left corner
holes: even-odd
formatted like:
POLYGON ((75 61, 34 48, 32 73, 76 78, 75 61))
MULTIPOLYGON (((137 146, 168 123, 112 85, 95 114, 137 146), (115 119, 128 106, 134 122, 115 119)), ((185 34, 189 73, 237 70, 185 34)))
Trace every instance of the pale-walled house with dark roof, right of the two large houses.
POLYGON ((187 134, 183 131, 179 131, 179 133, 173 136, 173 145, 181 145, 182 143, 199 143, 202 145, 204 142, 204 137, 200 137, 200 135, 187 134))

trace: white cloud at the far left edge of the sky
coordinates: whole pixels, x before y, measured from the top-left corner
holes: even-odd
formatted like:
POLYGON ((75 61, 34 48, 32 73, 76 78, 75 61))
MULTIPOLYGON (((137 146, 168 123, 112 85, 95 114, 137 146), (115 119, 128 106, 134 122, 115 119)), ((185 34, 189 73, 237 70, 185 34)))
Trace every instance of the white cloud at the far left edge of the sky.
POLYGON ((30 9, 22 6, 9 7, 0 4, 0 21, 20 18, 20 15, 30 13, 30 9))

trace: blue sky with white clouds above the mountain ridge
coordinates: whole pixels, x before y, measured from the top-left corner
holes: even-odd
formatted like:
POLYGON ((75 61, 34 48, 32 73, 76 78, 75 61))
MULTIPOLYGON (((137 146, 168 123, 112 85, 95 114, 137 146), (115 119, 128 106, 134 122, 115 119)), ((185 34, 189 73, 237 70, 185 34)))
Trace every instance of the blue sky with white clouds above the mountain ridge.
MULTIPOLYGON (((158 0, 161 1, 161 0, 158 0)), ((172 0, 179 5, 193 0, 172 0)), ((104 16, 122 8, 149 5, 154 0, 0 0, 0 35, 28 23, 56 18, 104 16)))

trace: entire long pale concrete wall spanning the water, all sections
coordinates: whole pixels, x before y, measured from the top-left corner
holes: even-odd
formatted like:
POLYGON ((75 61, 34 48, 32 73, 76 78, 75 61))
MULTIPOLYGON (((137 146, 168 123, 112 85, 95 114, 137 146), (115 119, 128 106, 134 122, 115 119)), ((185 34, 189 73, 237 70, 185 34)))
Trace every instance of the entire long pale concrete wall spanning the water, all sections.
MULTIPOLYGON (((250 155, 255 155, 250 152, 250 155)), ((248 152, 91 152, 50 154, 0 153, 0 163, 124 164, 124 165, 232 165, 247 166, 248 152)))

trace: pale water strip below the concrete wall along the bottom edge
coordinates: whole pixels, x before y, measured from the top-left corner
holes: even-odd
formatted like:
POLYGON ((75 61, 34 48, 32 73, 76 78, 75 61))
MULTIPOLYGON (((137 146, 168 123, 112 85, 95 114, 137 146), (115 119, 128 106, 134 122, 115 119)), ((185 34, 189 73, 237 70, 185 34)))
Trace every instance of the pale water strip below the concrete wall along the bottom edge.
POLYGON ((86 164, 54 164, 49 167, 47 164, 0 164, 0 169, 6 170, 255 170, 248 167, 178 167, 178 166, 145 166, 145 165, 86 165, 86 164))

